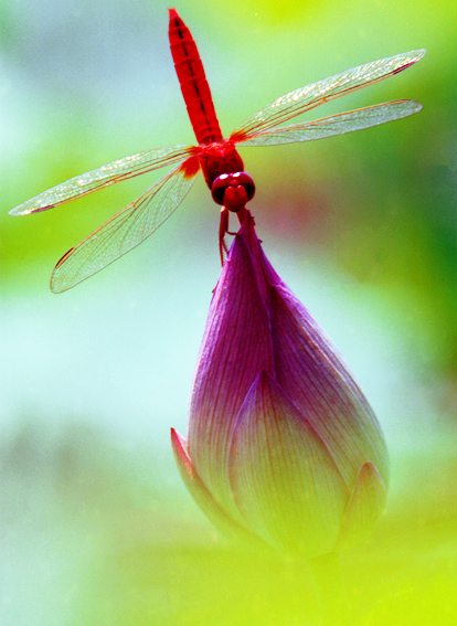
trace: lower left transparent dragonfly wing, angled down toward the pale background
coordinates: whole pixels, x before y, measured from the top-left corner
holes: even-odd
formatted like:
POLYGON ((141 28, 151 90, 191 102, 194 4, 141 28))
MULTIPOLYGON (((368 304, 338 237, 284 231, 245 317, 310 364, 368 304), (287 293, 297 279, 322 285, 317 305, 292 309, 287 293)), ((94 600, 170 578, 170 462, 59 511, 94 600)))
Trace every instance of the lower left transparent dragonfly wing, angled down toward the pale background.
POLYGON ((177 166, 72 247, 52 273, 51 290, 60 294, 71 289, 145 241, 182 202, 194 178, 182 165, 177 166))

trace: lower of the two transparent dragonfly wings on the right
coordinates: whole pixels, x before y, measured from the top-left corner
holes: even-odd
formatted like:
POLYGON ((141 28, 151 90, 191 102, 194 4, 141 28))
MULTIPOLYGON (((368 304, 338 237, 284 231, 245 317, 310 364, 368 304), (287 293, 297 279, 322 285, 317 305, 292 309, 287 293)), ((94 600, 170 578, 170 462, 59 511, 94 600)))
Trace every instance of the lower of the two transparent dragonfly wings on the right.
POLYGON ((242 146, 276 146, 296 141, 312 141, 333 135, 343 135, 353 130, 362 130, 370 126, 385 124, 393 119, 407 117, 422 109, 422 104, 414 100, 394 100, 379 105, 339 113, 313 121, 291 124, 275 130, 256 132, 242 142, 242 146))

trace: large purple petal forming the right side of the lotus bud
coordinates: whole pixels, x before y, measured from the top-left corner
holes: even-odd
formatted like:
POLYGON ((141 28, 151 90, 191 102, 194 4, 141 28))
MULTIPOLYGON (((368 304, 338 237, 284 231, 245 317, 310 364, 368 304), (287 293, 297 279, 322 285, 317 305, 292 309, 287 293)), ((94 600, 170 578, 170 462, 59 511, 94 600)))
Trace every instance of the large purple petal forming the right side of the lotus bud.
POLYGON ((349 489, 365 460, 386 480, 380 425, 336 349, 284 283, 270 296, 277 382, 326 442, 349 489))

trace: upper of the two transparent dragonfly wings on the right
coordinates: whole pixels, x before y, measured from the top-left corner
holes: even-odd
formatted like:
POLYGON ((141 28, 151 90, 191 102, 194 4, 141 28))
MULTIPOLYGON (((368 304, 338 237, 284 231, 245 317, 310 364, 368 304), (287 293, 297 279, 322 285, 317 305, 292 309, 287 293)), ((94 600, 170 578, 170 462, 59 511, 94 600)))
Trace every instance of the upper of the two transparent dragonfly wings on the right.
POLYGON ((326 102, 378 83, 406 70, 422 59, 425 52, 425 50, 413 50, 372 61, 290 92, 252 115, 232 134, 231 138, 234 141, 243 141, 245 137, 249 138, 251 135, 274 128, 326 102))

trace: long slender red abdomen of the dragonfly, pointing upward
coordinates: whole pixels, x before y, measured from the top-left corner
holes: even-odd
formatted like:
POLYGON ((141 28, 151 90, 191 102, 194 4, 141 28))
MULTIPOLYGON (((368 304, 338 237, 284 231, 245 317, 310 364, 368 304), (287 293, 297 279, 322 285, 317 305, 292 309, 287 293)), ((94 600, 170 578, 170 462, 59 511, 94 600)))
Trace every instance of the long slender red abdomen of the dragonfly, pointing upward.
POLYGON ((195 42, 174 9, 170 14, 170 49, 193 131, 200 145, 222 140, 210 87, 195 42))

